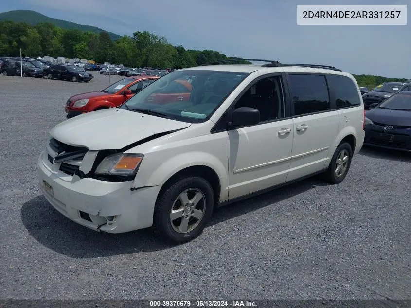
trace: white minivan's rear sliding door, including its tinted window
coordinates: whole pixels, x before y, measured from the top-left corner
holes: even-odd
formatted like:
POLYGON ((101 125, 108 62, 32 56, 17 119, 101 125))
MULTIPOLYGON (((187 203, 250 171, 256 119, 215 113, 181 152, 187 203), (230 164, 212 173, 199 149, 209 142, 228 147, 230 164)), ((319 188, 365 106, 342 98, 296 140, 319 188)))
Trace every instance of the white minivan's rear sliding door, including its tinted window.
POLYGON ((338 133, 339 115, 331 110, 325 75, 288 75, 294 142, 287 181, 321 171, 338 133))

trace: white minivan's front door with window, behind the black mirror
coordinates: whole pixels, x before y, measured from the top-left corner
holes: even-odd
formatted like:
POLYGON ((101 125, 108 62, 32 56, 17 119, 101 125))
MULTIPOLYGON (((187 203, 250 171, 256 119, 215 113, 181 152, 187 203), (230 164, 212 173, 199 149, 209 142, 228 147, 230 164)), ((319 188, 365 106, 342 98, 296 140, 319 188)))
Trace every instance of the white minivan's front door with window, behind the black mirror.
POLYGON ((229 130, 229 199, 286 181, 293 144, 293 121, 285 117, 280 75, 254 83, 235 108, 260 111, 260 123, 229 130))

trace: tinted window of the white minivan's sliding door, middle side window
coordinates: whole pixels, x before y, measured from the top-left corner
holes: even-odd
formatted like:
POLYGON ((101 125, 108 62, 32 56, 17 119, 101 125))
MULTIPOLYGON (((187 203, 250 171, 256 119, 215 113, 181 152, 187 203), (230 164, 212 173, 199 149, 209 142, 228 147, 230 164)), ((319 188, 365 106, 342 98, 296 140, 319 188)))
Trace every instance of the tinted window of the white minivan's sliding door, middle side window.
POLYGON ((289 79, 295 115, 330 109, 330 97, 325 76, 290 74, 289 79))

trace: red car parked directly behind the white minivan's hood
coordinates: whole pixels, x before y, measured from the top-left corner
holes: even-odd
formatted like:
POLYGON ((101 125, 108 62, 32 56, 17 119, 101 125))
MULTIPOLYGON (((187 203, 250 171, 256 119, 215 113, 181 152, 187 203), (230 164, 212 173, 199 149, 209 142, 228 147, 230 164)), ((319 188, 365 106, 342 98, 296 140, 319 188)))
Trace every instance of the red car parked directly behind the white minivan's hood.
POLYGON ((94 110, 118 107, 158 78, 158 76, 131 76, 113 83, 104 90, 71 96, 65 108, 67 118, 94 110))

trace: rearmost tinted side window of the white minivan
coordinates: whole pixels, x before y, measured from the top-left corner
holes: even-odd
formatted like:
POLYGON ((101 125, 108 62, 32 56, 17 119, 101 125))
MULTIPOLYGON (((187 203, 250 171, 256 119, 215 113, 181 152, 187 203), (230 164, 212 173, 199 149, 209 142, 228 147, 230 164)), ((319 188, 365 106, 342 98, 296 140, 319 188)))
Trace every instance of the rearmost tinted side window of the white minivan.
POLYGON ((351 78, 341 75, 328 75, 327 81, 334 90, 337 108, 361 105, 358 90, 351 78))

